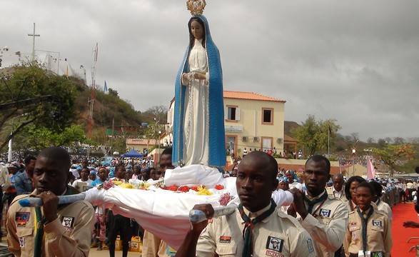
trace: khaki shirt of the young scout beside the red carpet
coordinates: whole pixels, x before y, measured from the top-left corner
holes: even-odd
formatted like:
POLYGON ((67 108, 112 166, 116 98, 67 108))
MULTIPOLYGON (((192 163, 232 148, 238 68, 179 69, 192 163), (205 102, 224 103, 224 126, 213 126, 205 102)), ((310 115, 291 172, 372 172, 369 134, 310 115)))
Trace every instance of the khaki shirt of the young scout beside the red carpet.
MULTIPOLYGON (((374 213, 368 218, 367 251, 383 252, 383 256, 388 257, 393 246, 390 219, 383 211, 378 211, 374 203, 371 206, 374 213)), ((343 241, 346 256, 363 250, 362 221, 357 209, 358 206, 349 213, 348 228, 343 241)))

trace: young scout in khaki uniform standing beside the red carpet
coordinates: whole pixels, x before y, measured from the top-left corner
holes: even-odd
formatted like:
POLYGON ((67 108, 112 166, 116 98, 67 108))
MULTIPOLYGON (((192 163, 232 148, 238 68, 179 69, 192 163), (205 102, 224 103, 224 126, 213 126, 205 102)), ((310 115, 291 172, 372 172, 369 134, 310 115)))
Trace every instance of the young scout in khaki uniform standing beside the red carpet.
POLYGON ((346 256, 354 257, 360 252, 370 251, 371 257, 390 257, 393 246, 391 221, 372 202, 374 194, 373 186, 366 181, 356 188, 358 206, 349 213, 343 241, 346 256))

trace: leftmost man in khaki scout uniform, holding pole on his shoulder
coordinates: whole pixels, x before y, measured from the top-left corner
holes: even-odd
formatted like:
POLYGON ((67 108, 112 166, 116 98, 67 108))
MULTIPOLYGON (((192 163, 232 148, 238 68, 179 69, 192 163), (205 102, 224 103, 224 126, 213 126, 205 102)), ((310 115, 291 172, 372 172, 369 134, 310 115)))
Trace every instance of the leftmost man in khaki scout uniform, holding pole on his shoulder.
POLYGON ((7 218, 7 243, 16 256, 88 256, 94 208, 87 201, 59 205, 57 196, 79 193, 67 186, 70 156, 63 148, 39 153, 34 168, 35 190, 17 196, 7 218), (19 199, 39 197, 41 207, 21 207, 19 199))

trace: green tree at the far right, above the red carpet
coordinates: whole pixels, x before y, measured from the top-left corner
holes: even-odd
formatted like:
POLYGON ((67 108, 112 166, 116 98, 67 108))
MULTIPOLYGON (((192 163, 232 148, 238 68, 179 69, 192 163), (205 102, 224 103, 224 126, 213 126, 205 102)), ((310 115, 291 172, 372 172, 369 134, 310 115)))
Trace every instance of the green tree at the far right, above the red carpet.
POLYGON ((409 143, 388 144, 383 149, 371 148, 377 158, 390 166, 390 176, 393 176, 395 167, 400 161, 413 160, 415 158, 415 148, 409 143))

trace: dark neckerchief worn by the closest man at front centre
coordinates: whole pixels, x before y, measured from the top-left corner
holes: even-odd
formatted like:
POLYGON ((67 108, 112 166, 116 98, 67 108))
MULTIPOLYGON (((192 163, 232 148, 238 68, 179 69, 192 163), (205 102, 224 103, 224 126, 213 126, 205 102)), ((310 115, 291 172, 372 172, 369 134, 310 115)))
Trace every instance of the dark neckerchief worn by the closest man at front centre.
POLYGON ((243 228, 243 238, 244 238, 244 248, 243 248, 243 257, 249 257, 253 254, 253 226, 263 221, 265 218, 268 218, 273 211, 275 211, 276 203, 271 199, 271 208, 268 209, 268 211, 265 211, 261 215, 257 216, 256 218, 253 218, 252 220, 244 213, 243 211, 243 205, 241 203, 238 205, 238 211, 240 212, 241 218, 243 218, 243 221, 245 222, 244 228, 243 228))

